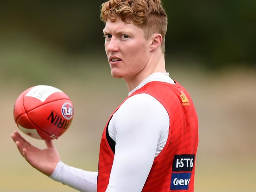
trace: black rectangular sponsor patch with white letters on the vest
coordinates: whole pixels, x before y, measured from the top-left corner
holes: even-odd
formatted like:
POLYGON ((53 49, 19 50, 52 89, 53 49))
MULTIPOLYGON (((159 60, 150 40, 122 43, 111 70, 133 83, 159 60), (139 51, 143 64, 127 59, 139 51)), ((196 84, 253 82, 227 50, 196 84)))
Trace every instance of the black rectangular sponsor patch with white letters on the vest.
POLYGON ((173 172, 191 172, 195 162, 195 155, 174 155, 173 172))

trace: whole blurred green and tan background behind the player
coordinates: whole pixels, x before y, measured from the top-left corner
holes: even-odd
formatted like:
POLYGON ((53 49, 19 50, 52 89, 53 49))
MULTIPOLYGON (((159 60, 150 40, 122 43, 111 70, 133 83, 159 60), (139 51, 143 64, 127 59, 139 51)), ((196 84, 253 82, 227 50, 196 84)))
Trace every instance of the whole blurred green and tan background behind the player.
MULTIPOLYGON (((74 104, 72 126, 54 141, 62 161, 97 170, 104 125, 128 94, 110 74, 102 2, 0 2, 0 192, 76 191, 33 169, 10 137, 15 100, 34 85, 57 87, 74 104)), ((164 7, 166 68, 198 112, 195 192, 255 191, 256 2, 165 0, 164 7)))

